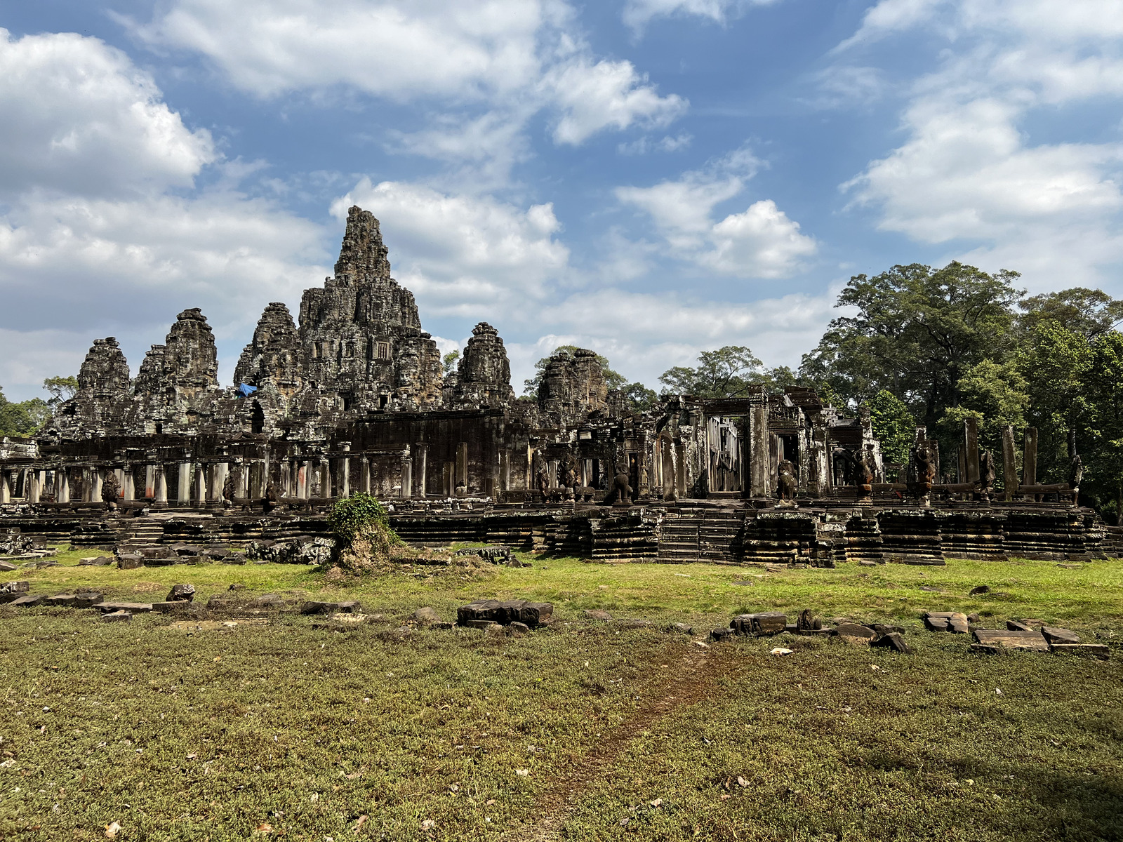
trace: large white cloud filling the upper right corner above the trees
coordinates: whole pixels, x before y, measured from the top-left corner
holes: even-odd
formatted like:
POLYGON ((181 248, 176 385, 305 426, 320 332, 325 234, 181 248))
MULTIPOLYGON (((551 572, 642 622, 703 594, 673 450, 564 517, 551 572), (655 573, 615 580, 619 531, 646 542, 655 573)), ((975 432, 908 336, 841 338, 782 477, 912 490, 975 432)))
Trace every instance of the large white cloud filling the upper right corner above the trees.
POLYGON ((1033 143, 1026 125, 1123 97, 1123 18, 1110 6, 883 0, 850 42, 925 25, 952 47, 913 83, 905 141, 843 189, 880 228, 979 244, 957 256, 1023 269, 1030 286, 1107 282, 1123 262, 1123 143, 1033 143))

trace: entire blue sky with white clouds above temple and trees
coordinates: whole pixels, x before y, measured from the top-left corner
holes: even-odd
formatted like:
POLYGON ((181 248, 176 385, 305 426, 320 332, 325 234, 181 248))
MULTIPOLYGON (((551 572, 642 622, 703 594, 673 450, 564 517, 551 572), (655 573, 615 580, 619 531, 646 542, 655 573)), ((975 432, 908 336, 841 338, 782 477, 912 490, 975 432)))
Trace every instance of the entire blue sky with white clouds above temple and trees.
POLYGON ((346 209, 448 350, 797 365, 856 273, 1123 295, 1117 0, 0 3, 0 386, 201 306, 229 381, 346 209))

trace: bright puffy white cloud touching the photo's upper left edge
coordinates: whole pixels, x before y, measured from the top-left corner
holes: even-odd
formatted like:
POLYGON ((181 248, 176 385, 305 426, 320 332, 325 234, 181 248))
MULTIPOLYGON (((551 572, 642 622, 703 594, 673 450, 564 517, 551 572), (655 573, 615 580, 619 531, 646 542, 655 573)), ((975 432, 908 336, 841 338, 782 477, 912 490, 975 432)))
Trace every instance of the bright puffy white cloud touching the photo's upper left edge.
POLYGON ((0 29, 0 192, 83 195, 189 186, 216 159, 149 76, 97 38, 0 29))

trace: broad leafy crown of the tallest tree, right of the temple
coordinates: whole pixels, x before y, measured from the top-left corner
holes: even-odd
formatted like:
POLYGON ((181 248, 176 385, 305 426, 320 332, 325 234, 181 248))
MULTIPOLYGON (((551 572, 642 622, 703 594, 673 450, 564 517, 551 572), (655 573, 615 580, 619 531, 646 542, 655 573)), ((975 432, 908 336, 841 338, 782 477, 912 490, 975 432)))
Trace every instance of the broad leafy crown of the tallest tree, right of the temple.
POLYGON ((948 408, 959 405, 959 382, 971 366, 1005 359, 1021 294, 1013 286, 1017 277, 958 262, 855 275, 837 303, 855 314, 831 321, 819 346, 804 355, 800 374, 857 402, 892 392, 934 428, 948 408))

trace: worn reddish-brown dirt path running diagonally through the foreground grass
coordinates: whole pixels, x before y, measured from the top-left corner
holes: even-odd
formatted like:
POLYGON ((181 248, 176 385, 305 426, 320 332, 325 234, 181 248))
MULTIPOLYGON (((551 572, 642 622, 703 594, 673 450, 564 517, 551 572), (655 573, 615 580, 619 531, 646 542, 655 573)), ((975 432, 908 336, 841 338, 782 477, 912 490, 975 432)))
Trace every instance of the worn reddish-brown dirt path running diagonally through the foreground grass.
MULTIPOLYGON (((535 804, 533 817, 503 836, 503 842, 548 842, 557 836, 588 784, 602 778, 637 736, 678 707, 688 707, 713 693, 718 676, 736 669, 730 647, 703 649, 692 644, 666 670, 668 679, 647 690, 650 699, 624 720, 575 766, 563 772, 535 804)), ((672 663, 672 661, 667 661, 672 663)))

